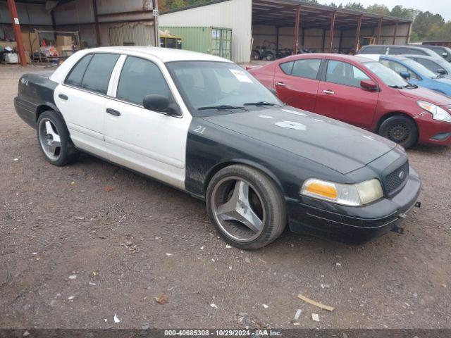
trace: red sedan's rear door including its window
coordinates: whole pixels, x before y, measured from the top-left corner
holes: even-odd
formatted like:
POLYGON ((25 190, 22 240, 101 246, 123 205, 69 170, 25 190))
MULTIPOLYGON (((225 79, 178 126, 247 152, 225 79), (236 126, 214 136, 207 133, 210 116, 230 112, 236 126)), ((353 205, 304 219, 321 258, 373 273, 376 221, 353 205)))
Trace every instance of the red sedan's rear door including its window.
POLYGON ((321 58, 280 63, 274 71, 274 87, 280 100, 289 106, 313 111, 319 86, 321 58))

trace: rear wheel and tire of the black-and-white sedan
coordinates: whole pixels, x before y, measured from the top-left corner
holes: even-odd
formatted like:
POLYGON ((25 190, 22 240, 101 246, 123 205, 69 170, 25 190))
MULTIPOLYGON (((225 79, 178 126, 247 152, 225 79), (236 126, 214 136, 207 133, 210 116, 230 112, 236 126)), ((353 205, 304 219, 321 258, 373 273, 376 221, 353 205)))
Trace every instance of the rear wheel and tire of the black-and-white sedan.
POLYGON ((70 140, 68 128, 55 111, 39 115, 37 139, 45 159, 53 165, 63 166, 78 159, 79 153, 70 140))

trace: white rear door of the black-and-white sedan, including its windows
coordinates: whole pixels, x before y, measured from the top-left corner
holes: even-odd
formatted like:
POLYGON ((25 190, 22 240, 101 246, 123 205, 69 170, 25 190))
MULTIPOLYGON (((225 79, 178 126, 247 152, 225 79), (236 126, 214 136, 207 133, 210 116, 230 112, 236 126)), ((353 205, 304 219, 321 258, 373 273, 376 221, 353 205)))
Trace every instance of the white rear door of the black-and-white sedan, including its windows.
POLYGON ((87 54, 54 92, 75 146, 105 156, 104 118, 107 91, 118 54, 87 54))

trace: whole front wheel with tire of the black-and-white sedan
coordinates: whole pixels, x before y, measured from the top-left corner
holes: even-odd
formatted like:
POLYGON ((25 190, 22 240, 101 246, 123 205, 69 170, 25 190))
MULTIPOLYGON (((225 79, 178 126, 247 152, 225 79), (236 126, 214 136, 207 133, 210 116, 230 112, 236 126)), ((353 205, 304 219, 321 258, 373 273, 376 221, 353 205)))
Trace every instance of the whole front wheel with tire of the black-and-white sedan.
POLYGON ((287 224, 285 200, 276 183, 247 165, 230 165, 214 175, 206 209, 221 237, 239 249, 270 244, 287 224))

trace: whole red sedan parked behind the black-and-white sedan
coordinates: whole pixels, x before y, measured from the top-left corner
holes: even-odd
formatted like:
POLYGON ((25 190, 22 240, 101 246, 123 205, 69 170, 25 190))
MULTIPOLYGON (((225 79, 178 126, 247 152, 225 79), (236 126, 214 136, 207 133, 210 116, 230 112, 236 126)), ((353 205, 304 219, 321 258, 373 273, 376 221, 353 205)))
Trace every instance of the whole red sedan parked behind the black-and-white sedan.
POLYGON ((302 54, 249 68, 285 104, 381 134, 402 146, 451 144, 451 98, 360 56, 302 54))

